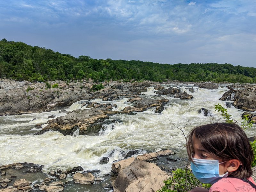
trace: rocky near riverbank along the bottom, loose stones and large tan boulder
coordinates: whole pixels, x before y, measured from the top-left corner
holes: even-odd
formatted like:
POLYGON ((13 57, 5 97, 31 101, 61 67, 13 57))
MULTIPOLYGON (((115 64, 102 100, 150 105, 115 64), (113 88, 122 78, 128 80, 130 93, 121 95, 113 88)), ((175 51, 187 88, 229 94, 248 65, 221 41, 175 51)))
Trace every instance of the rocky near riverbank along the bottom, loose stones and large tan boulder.
MULTIPOLYGON (((116 160, 112 163, 112 186, 105 188, 114 188, 114 191, 153 191, 160 189, 168 179, 168 174, 151 161, 158 156, 170 156, 174 154, 172 150, 161 150, 155 153, 146 153, 135 157, 135 151, 126 154, 125 159, 116 160), (131 172, 131 173, 130 173, 131 172), (125 182, 121 182, 124 181, 125 182)), ((42 173, 43 165, 33 163, 14 163, 0 166, 0 192, 18 192, 18 191, 46 191, 59 192, 68 185, 93 184, 94 182, 104 182, 109 174, 97 175, 100 170, 83 170, 77 166, 71 170, 61 171, 52 170, 48 174, 42 173), (12 170, 15 170, 14 172, 12 170), (17 176, 18 175, 18 176, 17 176), (25 177, 25 178, 24 178, 25 177), (41 180, 35 180, 40 177, 41 180), (29 178, 34 178, 32 182, 29 178)), ((109 179, 109 178, 108 178, 109 179)))

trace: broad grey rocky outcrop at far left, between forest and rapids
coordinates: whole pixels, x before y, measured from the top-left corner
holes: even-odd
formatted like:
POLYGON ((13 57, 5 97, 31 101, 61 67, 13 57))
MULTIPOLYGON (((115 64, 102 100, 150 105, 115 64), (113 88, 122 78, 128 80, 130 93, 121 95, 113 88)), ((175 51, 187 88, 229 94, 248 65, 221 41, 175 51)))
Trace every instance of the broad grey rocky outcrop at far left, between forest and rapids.
POLYGON ((0 116, 52 111, 89 98, 88 89, 81 89, 80 82, 49 82, 56 83, 59 88, 46 88, 45 83, 0 79, 0 116))

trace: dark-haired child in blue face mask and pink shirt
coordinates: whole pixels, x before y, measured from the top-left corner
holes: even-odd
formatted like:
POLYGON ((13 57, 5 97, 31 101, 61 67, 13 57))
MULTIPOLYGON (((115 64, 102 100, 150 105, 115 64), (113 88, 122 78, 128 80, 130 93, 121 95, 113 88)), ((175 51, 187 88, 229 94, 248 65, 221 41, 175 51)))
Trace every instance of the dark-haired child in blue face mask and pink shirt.
MULTIPOLYGON (((255 192, 251 163, 253 150, 245 132, 237 125, 201 125, 187 138, 187 152, 195 177, 210 183, 210 192, 255 192)), ((208 191, 195 188, 191 191, 208 191)))

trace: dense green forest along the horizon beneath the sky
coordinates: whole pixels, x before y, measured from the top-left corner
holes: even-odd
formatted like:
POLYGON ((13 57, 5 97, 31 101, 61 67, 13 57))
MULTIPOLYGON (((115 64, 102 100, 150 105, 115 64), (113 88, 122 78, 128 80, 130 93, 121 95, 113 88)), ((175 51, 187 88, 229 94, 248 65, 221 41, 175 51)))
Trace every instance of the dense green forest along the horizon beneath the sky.
POLYGON ((160 64, 140 60, 92 59, 61 54, 22 42, 0 41, 0 78, 28 81, 134 79, 255 83, 256 68, 218 63, 160 64))

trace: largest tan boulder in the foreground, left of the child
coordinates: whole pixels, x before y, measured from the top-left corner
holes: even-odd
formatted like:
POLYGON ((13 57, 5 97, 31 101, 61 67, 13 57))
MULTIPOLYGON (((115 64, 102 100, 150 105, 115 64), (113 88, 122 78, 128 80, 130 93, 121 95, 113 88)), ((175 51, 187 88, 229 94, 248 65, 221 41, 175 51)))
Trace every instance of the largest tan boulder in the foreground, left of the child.
POLYGON ((130 165, 119 170, 112 186, 114 192, 156 192, 164 186, 163 181, 168 178, 168 174, 156 164, 136 159, 130 165))

